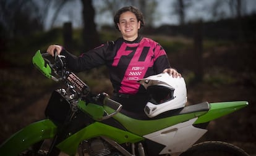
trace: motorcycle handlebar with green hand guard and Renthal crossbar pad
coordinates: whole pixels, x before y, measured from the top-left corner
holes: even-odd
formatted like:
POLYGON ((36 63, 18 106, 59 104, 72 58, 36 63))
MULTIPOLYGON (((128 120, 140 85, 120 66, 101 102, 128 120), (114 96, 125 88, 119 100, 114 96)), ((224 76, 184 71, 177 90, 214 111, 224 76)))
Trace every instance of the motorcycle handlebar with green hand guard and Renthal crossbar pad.
MULTIPOLYGON (((54 81, 64 81, 67 86, 66 91, 68 94, 76 99, 81 98, 87 99, 90 98, 90 88, 85 84, 78 76, 74 73, 66 70, 66 57, 64 55, 57 55, 54 53, 54 58, 50 57, 48 53, 41 54, 40 51, 37 51, 33 57, 33 64, 48 78, 51 78, 54 81), (48 58, 49 57, 49 58, 48 58)), ((95 101, 94 101, 95 102, 95 101)), ((101 93, 96 96, 96 104, 105 105, 109 107, 111 113, 106 113, 100 120, 106 120, 111 118, 116 113, 119 113, 122 109, 122 105, 119 102, 113 101, 109 98, 108 94, 101 93)))

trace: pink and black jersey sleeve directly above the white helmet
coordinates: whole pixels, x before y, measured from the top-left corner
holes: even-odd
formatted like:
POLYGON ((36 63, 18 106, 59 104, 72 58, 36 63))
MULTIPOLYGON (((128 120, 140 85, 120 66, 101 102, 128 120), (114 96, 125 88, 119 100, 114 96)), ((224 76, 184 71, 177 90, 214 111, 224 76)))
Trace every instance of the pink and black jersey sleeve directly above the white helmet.
POLYGON ((171 68, 168 56, 166 55, 166 52, 164 51, 163 47, 160 44, 156 43, 154 62, 155 73, 162 73, 163 70, 166 68, 171 68))

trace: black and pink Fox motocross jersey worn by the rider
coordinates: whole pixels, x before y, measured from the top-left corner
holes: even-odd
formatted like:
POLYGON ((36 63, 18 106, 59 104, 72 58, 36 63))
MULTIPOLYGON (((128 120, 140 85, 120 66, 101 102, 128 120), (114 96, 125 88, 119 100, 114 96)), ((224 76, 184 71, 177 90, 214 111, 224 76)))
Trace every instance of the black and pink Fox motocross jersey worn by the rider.
POLYGON ((75 57, 62 51, 67 57, 67 67, 74 72, 89 70, 100 65, 109 68, 109 77, 114 92, 137 94, 145 92, 138 80, 170 68, 163 47, 152 39, 138 37, 135 41, 122 38, 75 57))

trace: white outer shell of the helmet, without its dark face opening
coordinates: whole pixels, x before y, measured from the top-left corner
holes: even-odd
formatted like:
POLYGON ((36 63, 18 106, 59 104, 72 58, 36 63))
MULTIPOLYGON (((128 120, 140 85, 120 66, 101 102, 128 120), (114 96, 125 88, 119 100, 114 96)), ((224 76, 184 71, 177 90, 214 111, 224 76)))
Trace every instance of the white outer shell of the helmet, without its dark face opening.
POLYGON ((160 73, 158 75, 144 78, 140 80, 139 83, 142 84, 145 89, 147 89, 148 86, 153 85, 166 86, 166 88, 174 89, 174 99, 161 104, 153 104, 152 102, 148 102, 147 105, 145 105, 144 111, 150 118, 168 110, 179 109, 186 105, 187 88, 184 78, 182 77, 173 78, 173 76, 169 75, 168 73, 160 73))

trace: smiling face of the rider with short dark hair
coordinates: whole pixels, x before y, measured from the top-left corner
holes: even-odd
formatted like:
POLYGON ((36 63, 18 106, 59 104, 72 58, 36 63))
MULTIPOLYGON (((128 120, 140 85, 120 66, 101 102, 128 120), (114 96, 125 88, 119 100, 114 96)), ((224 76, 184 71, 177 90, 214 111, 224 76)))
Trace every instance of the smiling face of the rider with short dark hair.
POLYGON ((121 31, 122 38, 126 39, 127 41, 134 41, 138 37, 140 21, 138 22, 134 13, 130 11, 122 13, 117 26, 121 31))

